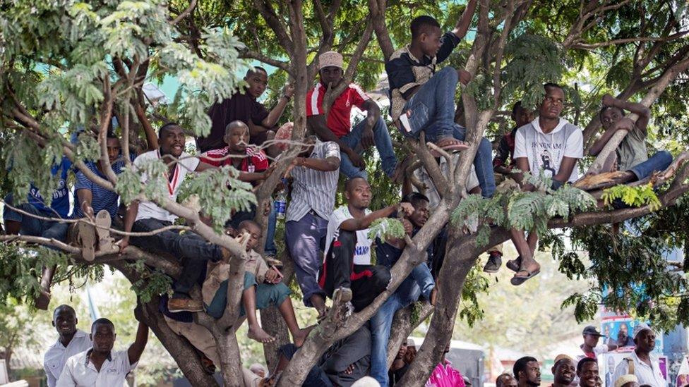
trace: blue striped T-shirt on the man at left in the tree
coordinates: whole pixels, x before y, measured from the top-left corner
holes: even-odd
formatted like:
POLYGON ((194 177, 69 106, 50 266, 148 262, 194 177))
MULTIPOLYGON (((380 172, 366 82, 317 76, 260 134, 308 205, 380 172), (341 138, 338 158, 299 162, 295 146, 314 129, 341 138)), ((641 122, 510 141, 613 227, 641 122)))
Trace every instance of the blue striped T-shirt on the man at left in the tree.
MULTIPOLYGON (((102 173, 100 173, 100 171, 98 171, 98 167, 96 166, 95 162, 86 161, 85 164, 86 166, 88 166, 90 171, 95 173, 100 178, 104 178, 105 180, 107 180, 107 177, 105 177, 102 173)), ((119 175, 124 168, 125 165, 123 160, 115 161, 112 164, 112 170, 116 175, 119 175)), ((91 191, 91 207, 93 209, 93 214, 97 214, 98 211, 104 209, 109 212, 111 218, 114 218, 116 216, 119 194, 111 190, 107 190, 106 188, 102 188, 100 185, 97 185, 88 177, 86 177, 86 175, 82 171, 78 171, 76 173, 76 183, 74 184, 74 211, 72 213, 73 218, 84 217, 84 213, 81 210, 81 206, 76 195, 76 192, 78 190, 91 191)))

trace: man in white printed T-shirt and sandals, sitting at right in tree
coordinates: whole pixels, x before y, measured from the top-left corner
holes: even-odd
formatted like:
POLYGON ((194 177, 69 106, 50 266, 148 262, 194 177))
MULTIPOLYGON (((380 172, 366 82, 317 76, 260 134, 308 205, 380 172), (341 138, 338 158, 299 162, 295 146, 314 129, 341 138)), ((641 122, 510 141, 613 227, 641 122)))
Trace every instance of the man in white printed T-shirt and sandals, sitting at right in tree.
MULTIPOLYGON (((565 99, 562 87, 555 83, 543 87, 546 95, 539 106, 539 117, 517 130, 514 157, 522 172, 534 176, 542 173, 552 179, 551 188, 557 190, 577 180, 577 160, 584 156, 584 137, 580 128, 560 117, 565 99)), ((533 189, 522 183, 522 190, 533 189)), ((541 265, 534 259, 538 235, 532 231, 527 240, 524 232, 515 228, 510 235, 519 253, 517 259, 507 263, 516 272, 510 283, 521 285, 541 272, 541 265)))

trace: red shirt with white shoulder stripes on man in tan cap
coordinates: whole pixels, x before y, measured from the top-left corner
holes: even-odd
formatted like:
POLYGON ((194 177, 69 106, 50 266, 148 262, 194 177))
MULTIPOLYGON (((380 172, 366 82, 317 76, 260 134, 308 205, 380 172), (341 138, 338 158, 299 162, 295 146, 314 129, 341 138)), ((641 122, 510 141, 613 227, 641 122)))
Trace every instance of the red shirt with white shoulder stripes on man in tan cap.
MULTIPOLYGON (((325 97, 325 86, 318 82, 318 85, 306 93, 306 116, 318 116, 318 114, 323 114, 323 97, 325 97)), ((363 110, 364 102, 369 100, 369 96, 366 95, 361 87, 354 85, 354 83, 349 84, 347 89, 340 94, 340 97, 335 99, 332 103, 330 112, 328 113, 328 120, 325 121, 328 125, 328 129, 332 131, 333 134, 340 138, 344 135, 349 134, 349 130, 352 130, 352 121, 349 118, 352 112, 352 105, 357 106, 359 109, 363 110)))

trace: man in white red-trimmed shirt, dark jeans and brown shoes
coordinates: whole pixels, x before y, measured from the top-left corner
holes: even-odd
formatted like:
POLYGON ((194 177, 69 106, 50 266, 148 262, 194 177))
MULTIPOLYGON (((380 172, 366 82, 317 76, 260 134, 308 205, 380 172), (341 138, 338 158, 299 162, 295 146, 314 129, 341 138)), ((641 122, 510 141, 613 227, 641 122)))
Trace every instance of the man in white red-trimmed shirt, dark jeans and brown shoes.
MULTIPOLYGON (((140 154, 134 160, 134 166, 145 171, 152 160, 162 159, 168 166, 165 181, 152 180, 146 173, 141 175, 141 183, 164 184, 168 198, 173 202, 177 199, 179 187, 188 173, 213 169, 215 166, 200 161, 197 157, 184 152, 186 135, 176 123, 162 125, 158 133, 160 149, 140 154)), ((124 216, 124 231, 150 233, 166 226, 171 226, 177 216, 154 202, 134 201, 129 204, 124 216)), ((152 252, 172 254, 181 260, 183 265, 181 274, 172 284, 174 294, 168 302, 170 312, 198 312, 203 310, 203 302, 192 300, 188 293, 196 285, 198 278, 205 270, 208 261, 218 262, 228 259, 229 252, 222 247, 208 242, 197 233, 179 233, 177 230, 167 230, 154 235, 137 236, 131 238, 136 247, 152 252)), ((129 244, 129 236, 122 238, 118 245, 124 249, 129 244)))

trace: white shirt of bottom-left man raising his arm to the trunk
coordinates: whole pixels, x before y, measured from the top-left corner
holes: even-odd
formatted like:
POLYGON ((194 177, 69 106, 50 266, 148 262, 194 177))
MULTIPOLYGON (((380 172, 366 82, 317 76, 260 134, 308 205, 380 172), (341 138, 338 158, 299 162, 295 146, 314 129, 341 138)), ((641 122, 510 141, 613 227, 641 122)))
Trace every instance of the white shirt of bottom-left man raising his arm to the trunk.
POLYGON ((88 354, 92 348, 74 355, 67 360, 64 370, 57 381, 57 387, 119 387, 128 386, 126 376, 136 367, 129 364, 127 351, 111 351, 109 359, 96 370, 88 354))

